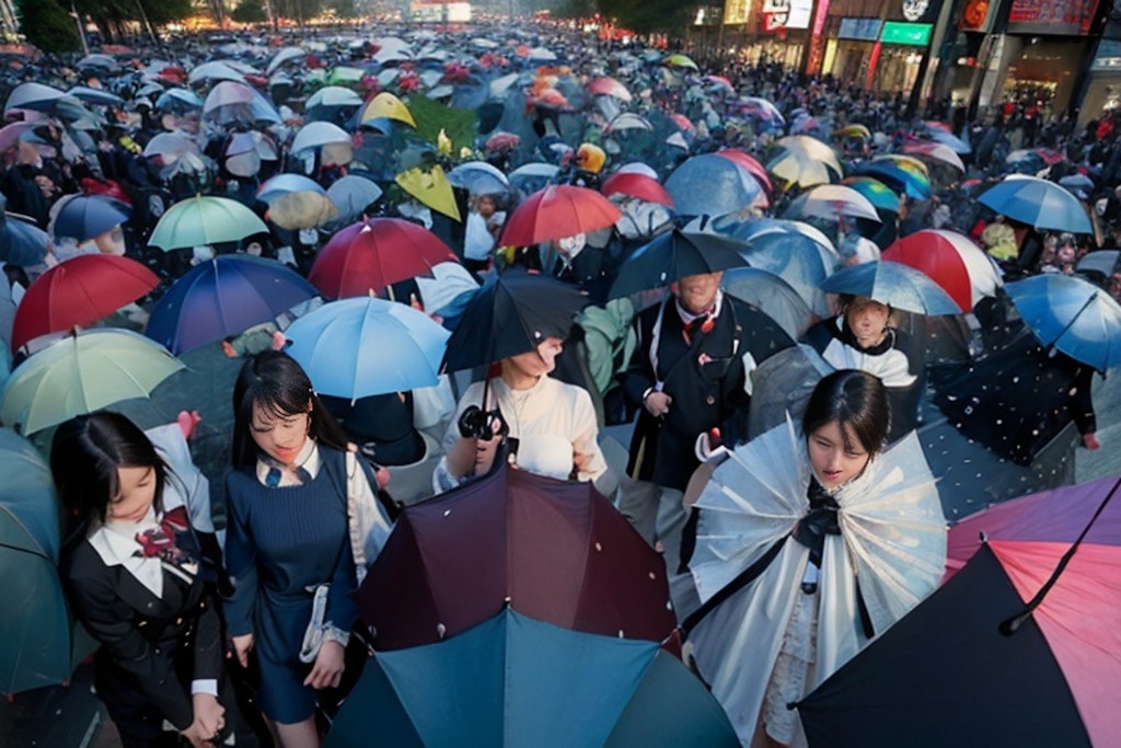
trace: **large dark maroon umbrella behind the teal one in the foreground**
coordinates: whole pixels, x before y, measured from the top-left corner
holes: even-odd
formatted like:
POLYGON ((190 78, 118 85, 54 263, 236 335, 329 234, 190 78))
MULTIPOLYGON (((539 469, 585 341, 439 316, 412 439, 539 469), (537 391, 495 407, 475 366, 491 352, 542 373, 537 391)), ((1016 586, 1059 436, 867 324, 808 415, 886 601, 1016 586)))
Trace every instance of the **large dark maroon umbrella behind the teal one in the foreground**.
POLYGON ((439 641, 509 603, 557 626, 663 641, 665 562, 591 483, 501 467, 408 507, 358 591, 377 649, 439 641))

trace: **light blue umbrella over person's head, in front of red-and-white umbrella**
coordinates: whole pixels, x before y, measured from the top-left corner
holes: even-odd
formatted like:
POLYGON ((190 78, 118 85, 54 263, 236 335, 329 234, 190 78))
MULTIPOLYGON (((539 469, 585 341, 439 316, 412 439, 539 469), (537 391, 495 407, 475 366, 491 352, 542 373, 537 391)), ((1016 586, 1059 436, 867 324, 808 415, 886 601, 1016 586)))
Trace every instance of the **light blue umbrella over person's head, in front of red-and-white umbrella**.
POLYGON ((867 296, 904 312, 962 314, 956 302, 924 273, 899 262, 862 262, 837 270, 822 290, 867 296))

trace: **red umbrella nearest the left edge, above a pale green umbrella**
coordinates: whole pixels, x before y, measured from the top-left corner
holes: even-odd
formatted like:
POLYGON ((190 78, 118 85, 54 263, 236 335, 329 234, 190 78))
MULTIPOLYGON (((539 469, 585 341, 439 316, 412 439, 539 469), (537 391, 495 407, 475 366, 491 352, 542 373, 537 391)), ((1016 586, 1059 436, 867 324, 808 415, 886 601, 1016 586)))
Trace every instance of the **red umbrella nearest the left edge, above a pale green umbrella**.
POLYGON ((11 349, 34 338, 86 326, 140 298, 159 284, 140 262, 115 255, 78 255, 50 268, 16 308, 11 349))

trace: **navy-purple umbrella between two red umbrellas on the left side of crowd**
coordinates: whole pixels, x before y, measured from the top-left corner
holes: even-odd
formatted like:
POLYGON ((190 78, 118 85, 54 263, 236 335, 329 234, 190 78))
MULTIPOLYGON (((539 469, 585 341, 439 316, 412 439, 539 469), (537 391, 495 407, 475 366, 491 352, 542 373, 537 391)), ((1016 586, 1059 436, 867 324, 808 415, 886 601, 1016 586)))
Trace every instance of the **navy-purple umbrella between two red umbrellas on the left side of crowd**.
POLYGON ((152 308, 145 334, 180 353, 270 322, 317 293, 276 260, 220 255, 175 281, 152 308))

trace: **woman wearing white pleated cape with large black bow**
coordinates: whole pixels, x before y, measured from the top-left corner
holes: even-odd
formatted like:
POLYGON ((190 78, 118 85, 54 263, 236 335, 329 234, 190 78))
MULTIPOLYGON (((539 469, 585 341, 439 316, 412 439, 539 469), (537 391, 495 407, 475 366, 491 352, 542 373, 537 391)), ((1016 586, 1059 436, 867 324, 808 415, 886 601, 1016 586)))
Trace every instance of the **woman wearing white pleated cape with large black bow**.
POLYGON ((914 434, 882 451, 882 382, 856 370, 721 463, 702 491, 683 622, 743 745, 804 745, 788 708, 930 593, 946 523, 914 434))

